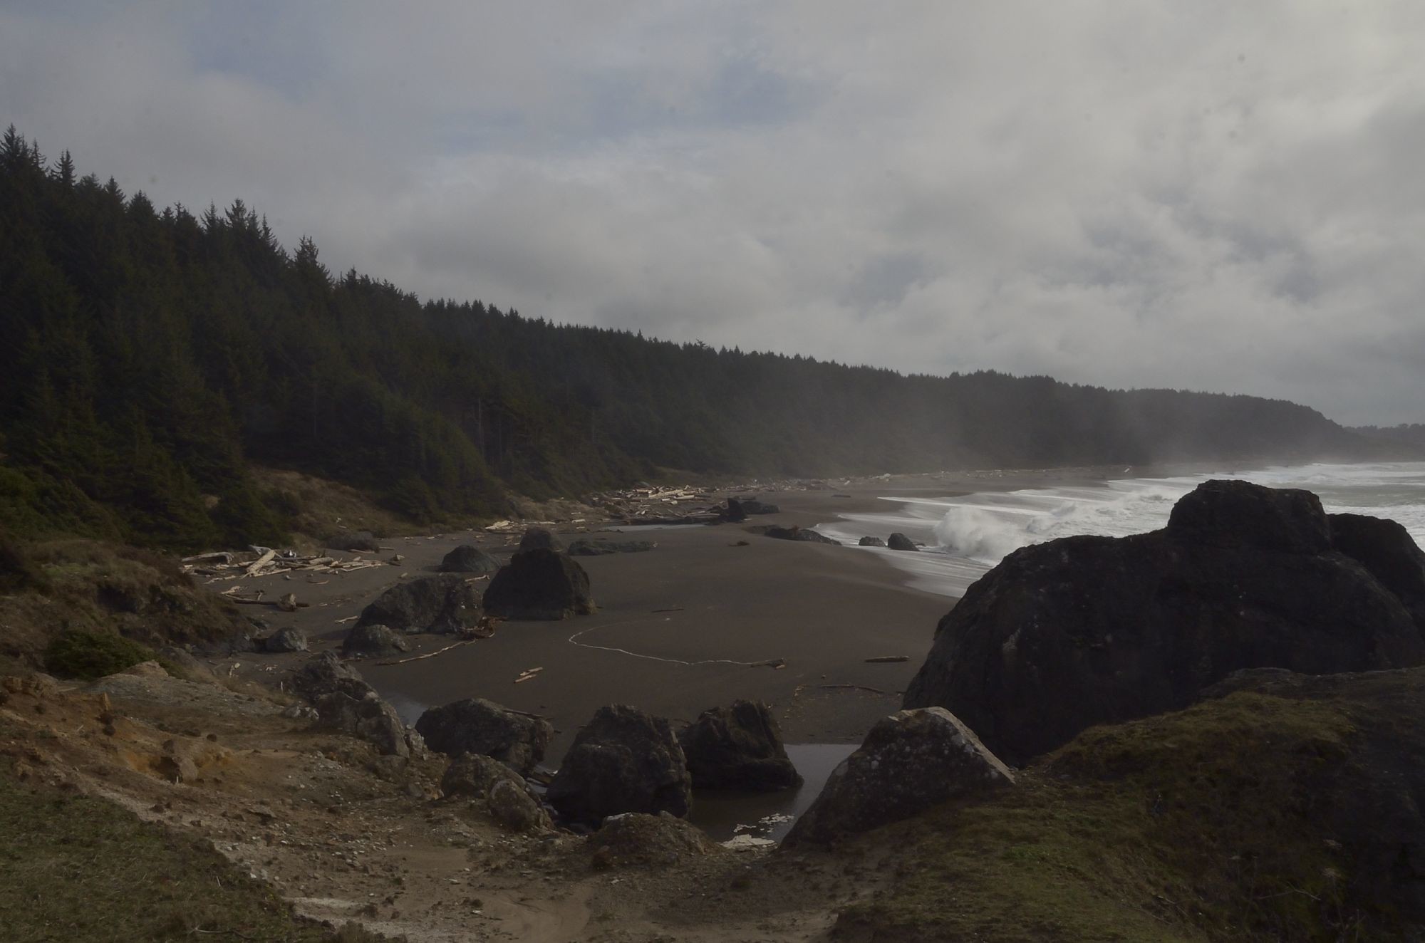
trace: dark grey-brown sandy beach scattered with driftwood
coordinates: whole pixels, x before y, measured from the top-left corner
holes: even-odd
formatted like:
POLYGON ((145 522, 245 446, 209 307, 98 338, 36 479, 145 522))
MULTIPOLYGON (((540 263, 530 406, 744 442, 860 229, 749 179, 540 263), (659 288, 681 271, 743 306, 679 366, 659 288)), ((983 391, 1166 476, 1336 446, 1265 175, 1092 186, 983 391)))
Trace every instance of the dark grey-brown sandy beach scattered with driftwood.
MULTIPOLYGON (((859 742, 879 717, 899 708, 901 694, 953 600, 908 587, 906 574, 876 554, 772 540, 748 527, 811 526, 839 513, 874 509, 882 497, 1103 477, 1104 470, 1090 469, 995 472, 758 491, 782 511, 748 524, 637 528, 637 537, 658 547, 580 558, 600 607, 594 615, 561 622, 510 621, 493 638, 433 658, 386 667, 365 661, 359 668, 408 721, 425 707, 467 697, 549 717, 559 731, 551 761, 596 708, 614 702, 691 721, 700 711, 735 698, 760 698, 772 705, 788 742, 859 742), (745 546, 737 546, 744 540, 745 546), (884 655, 906 655, 908 661, 866 662, 884 655), (779 670, 748 665, 771 660, 787 664, 779 670), (536 667, 543 671, 534 679, 514 684, 524 670, 536 667)), ((566 538, 579 536, 587 534, 566 538)), ((341 644, 351 617, 386 585, 433 571, 460 543, 477 543, 500 557, 513 550, 514 540, 484 533, 396 538, 389 546, 403 554, 399 566, 323 577, 325 583, 264 577, 248 580, 245 588, 292 590, 311 603, 295 615, 271 613, 269 621, 274 627, 298 625, 312 638, 314 650, 322 651, 341 644)), ((412 654, 450 644, 430 635, 413 641, 412 654)), ((249 668, 282 670, 262 661, 249 668)))

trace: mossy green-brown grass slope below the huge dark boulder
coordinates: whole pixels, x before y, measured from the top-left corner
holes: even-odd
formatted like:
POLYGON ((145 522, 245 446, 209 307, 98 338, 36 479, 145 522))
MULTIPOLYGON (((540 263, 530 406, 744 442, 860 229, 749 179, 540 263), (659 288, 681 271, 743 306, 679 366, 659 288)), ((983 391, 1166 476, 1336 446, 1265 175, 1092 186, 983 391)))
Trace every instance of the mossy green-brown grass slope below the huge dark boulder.
MULTIPOLYGON (((1086 731, 1015 789, 906 828, 895 885, 844 936, 905 940, 1372 937, 1322 792, 1355 728, 1347 705, 1238 692, 1086 731), (885 933, 885 936, 881 936, 885 933)), ((1334 801, 1349 801, 1335 796, 1334 801)), ((1378 916, 1378 915, 1377 915, 1378 916)))

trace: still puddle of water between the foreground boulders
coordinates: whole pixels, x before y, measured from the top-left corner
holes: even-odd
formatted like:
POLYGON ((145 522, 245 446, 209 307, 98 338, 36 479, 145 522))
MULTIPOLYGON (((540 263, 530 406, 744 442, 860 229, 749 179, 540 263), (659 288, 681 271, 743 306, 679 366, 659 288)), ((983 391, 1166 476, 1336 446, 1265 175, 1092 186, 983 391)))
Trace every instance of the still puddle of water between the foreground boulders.
POLYGON ((693 793, 688 822, 708 833, 714 842, 738 835, 781 840, 797 816, 805 812, 826 776, 859 744, 788 744, 787 756, 802 775, 802 785, 782 792, 722 792, 703 789, 693 793))

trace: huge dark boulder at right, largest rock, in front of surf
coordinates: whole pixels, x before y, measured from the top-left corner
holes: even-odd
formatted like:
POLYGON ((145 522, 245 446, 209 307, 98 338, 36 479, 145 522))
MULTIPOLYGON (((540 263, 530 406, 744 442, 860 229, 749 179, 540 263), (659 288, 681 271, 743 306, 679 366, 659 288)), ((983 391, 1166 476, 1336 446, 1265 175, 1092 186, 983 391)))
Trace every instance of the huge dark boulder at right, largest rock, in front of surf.
POLYGON ((1422 660, 1401 597, 1332 550, 1315 496, 1207 481, 1164 530, 1012 553, 940 620, 903 707, 953 711, 1017 765, 1090 725, 1186 707, 1240 668, 1422 660))

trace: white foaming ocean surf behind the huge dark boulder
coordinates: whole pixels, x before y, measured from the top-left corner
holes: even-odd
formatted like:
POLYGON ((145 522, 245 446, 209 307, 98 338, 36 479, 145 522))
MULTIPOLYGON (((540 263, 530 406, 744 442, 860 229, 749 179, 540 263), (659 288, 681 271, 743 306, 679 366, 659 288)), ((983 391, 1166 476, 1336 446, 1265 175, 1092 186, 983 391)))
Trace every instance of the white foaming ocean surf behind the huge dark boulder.
POLYGON ((1166 479, 1124 477, 1100 487, 980 491, 943 499, 885 499, 884 511, 842 514, 817 530, 855 546, 864 536, 901 531, 925 544, 919 554, 859 547, 912 574, 916 588, 960 595, 1007 554, 1029 544, 1099 534, 1123 537, 1157 530, 1183 497, 1208 479, 1243 479, 1270 487, 1314 491, 1328 513, 1399 521, 1425 546, 1425 462, 1278 466, 1254 472, 1166 479))

